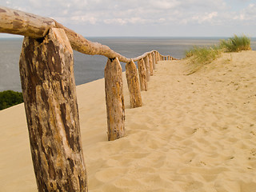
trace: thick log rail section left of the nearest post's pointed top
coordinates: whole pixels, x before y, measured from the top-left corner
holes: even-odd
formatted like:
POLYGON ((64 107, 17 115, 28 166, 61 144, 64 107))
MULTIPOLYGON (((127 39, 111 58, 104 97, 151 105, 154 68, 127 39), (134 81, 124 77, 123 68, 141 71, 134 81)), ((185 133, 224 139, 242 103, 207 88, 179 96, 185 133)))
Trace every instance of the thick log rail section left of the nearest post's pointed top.
POLYGON ((21 34, 31 38, 46 36, 55 22, 51 18, 43 18, 35 14, 25 13, 0 6, 0 32, 8 34, 21 34))

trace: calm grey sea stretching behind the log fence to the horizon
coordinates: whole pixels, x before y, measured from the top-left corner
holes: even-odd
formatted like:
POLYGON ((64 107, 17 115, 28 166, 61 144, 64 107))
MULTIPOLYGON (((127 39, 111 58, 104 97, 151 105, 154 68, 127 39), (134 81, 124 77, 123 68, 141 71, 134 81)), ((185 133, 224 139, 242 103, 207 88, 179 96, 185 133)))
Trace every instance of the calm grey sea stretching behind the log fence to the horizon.
MULTIPOLYGON (((217 45, 226 38, 142 38, 142 37, 97 37, 87 38, 99 42, 126 58, 136 58, 150 50, 158 50, 162 55, 184 58, 186 50, 193 46, 217 45)), ((252 50, 256 50, 256 38, 251 38, 252 50)), ((22 38, 0 38, 0 91, 22 91, 18 62, 22 50, 22 38)), ((76 85, 92 82, 104 77, 107 58, 101 55, 86 55, 74 51, 74 78, 76 85)), ((125 70, 125 63, 122 63, 125 70)))

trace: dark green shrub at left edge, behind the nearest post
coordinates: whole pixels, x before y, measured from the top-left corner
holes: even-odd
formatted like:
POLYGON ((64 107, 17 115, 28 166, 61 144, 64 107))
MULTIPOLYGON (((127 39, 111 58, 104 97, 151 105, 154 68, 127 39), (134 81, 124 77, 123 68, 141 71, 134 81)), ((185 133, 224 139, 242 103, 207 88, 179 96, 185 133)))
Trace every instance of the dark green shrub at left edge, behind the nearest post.
POLYGON ((15 106, 23 102, 22 93, 13 90, 5 90, 0 92, 0 110, 4 110, 10 106, 15 106))

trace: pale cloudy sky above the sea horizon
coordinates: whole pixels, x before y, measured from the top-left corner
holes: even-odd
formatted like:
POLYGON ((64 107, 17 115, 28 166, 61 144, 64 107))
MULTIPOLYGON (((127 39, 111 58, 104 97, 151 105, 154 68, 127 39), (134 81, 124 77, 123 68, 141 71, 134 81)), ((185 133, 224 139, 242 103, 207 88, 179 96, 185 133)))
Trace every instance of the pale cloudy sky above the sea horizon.
POLYGON ((2 0, 0 5, 54 18, 85 37, 256 37, 256 0, 2 0))

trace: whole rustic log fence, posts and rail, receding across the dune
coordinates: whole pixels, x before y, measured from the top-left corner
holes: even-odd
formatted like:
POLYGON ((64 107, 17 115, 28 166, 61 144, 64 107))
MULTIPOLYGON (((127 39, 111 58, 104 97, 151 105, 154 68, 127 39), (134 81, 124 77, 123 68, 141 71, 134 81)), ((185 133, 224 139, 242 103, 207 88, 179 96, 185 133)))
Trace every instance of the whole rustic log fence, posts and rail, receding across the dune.
POLYGON ((19 67, 30 134, 30 149, 39 191, 88 191, 74 84, 73 50, 108 58, 105 68, 108 139, 125 135, 122 67, 130 107, 142 106, 141 90, 160 60, 176 60, 152 50, 126 58, 110 47, 44 18, 0 6, 0 33, 25 36, 19 67), (72 50, 73 49, 73 50, 72 50), (134 62, 138 62, 138 71, 134 62))

